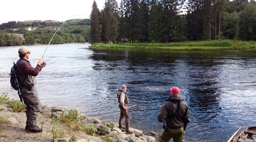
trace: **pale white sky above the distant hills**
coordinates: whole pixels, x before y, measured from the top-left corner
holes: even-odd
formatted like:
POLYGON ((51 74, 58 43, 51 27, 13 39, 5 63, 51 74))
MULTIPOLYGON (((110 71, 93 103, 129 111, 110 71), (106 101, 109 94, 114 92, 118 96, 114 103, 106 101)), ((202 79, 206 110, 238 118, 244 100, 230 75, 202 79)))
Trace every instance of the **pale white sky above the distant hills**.
MULTIPOLYGON (((94 0, 1 0, 0 24, 8 21, 89 19, 94 0)), ((105 0, 95 0, 103 9, 105 0)), ((120 0, 117 0, 118 4, 120 0)))

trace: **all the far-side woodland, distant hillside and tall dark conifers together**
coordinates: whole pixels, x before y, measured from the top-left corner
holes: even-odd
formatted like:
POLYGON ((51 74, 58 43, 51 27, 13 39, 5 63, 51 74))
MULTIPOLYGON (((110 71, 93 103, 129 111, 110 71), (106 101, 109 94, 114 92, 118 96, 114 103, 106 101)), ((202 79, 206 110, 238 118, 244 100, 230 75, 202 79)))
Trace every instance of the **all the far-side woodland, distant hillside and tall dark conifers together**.
MULTIPOLYGON (((48 44, 63 22, 10 21, 0 25, 0 46, 48 44), (37 27, 34 31, 26 27, 37 27), (13 31, 17 28, 17 31, 13 31), (15 34, 23 34, 22 40, 15 34)), ((170 43, 180 41, 256 41, 254 0, 105 0, 92 4, 90 19, 69 20, 52 44, 170 43)))

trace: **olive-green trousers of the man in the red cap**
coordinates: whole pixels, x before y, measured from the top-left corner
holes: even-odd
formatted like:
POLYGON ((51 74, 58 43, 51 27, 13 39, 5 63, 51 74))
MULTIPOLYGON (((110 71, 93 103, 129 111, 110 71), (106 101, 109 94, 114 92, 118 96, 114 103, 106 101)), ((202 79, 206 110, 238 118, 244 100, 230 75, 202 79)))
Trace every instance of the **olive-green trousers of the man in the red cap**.
POLYGON ((157 142, 168 142, 173 138, 173 142, 182 142, 183 127, 180 129, 168 129, 163 131, 157 142))

